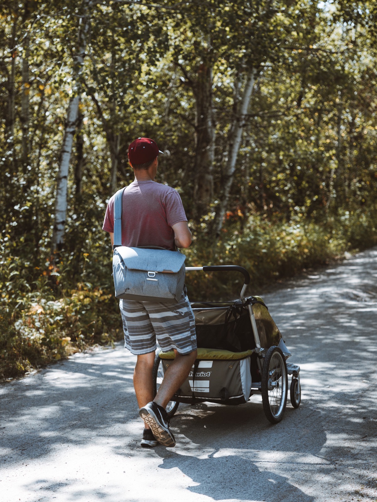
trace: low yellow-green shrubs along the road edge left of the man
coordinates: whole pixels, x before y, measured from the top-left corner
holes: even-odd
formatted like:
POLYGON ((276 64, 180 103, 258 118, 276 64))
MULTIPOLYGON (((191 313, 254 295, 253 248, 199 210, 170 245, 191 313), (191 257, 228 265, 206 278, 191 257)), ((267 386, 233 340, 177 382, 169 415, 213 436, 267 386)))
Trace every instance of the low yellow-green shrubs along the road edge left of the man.
MULTIPOLYGON (((25 295, 0 313, 0 374, 18 376, 31 368, 67 357, 93 344, 111 344, 122 336, 112 294, 78 285, 59 299, 25 295)), ((7 306, 6 306, 7 305, 7 306)))

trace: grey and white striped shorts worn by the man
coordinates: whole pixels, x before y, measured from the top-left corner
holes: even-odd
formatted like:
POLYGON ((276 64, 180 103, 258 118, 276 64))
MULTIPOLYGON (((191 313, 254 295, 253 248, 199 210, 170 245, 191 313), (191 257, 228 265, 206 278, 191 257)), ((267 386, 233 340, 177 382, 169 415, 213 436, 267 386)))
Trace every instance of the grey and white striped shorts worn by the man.
POLYGON ((174 304, 120 300, 119 306, 124 345, 132 354, 154 352, 156 338, 164 352, 176 349, 184 355, 196 350, 194 313, 187 296, 174 304))

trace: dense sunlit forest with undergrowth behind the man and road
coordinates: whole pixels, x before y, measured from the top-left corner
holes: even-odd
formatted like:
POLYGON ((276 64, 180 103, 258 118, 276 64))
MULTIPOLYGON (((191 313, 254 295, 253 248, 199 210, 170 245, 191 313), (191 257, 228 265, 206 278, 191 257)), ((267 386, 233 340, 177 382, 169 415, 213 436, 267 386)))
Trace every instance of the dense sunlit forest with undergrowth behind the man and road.
POLYGON ((368 0, 4 0, 3 378, 122 336, 102 223, 137 137, 165 151, 186 264, 243 265, 249 294, 377 242, 376 21, 368 0))

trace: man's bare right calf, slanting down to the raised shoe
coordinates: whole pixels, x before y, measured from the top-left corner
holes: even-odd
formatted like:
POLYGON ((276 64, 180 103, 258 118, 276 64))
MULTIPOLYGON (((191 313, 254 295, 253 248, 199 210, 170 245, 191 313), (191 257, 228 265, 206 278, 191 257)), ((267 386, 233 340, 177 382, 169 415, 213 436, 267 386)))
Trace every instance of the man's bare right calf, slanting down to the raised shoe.
POLYGON ((187 375, 189 374, 198 355, 196 350, 187 355, 178 354, 176 350, 174 350, 174 352, 175 359, 170 363, 169 367, 165 371, 162 383, 158 389, 156 397, 153 400, 156 404, 162 406, 162 408, 166 408, 167 403, 174 396, 174 393, 186 380, 187 375))

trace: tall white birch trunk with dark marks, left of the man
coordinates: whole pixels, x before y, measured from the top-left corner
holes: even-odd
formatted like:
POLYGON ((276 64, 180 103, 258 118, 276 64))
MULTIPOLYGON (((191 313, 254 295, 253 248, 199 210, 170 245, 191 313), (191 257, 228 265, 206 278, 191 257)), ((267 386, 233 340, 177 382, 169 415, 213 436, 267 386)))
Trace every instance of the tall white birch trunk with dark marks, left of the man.
POLYGON ((67 213, 67 185, 69 160, 72 152, 73 137, 77 126, 78 105, 80 102, 81 82, 84 55, 87 43, 87 35, 90 27, 92 0, 84 0, 82 3, 82 16, 78 30, 78 49, 73 58, 73 88, 70 98, 67 119, 65 123, 63 145, 60 155, 59 174, 55 197, 54 228, 51 241, 51 253, 60 250, 63 246, 65 218, 67 213))

